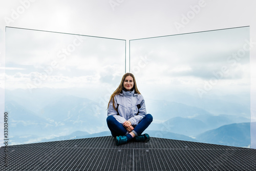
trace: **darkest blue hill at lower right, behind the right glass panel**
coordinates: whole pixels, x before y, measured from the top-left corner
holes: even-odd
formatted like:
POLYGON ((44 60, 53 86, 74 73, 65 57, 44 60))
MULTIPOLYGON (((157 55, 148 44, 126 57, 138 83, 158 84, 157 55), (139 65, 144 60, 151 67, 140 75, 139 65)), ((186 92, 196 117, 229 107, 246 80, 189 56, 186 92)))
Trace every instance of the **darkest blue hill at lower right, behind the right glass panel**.
POLYGON ((224 125, 196 136, 200 142, 247 147, 251 143, 250 123, 224 125))

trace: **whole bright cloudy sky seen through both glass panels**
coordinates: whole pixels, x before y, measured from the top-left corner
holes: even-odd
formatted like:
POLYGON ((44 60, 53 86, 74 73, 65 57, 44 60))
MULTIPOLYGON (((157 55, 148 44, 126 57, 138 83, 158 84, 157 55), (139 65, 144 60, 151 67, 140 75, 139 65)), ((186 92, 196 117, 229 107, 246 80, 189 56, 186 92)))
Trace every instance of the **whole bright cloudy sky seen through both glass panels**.
MULTIPOLYGON (((249 27, 132 40, 130 71, 147 88, 197 91, 214 81, 222 92, 248 92, 246 40, 249 27)), ((124 40, 7 28, 6 89, 113 87, 124 73, 126 51, 124 40)))

